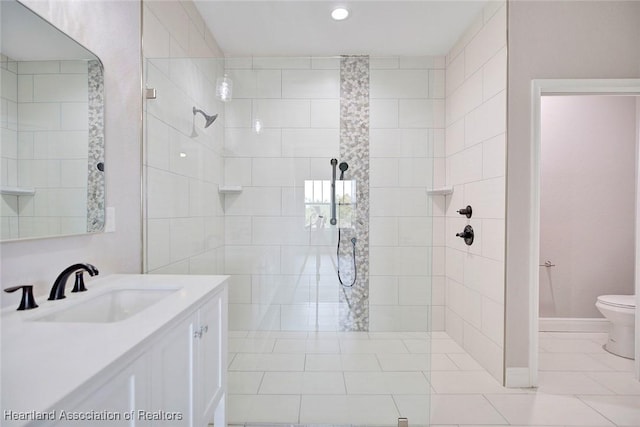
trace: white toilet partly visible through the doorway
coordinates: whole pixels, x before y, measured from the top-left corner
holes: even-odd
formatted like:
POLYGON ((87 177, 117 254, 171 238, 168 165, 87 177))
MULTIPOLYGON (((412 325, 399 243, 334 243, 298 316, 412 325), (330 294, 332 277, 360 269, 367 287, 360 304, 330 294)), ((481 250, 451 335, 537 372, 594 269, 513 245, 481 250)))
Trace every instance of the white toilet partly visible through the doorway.
POLYGON ((610 353, 633 359, 635 356, 635 295, 600 295, 600 313, 610 322, 609 339, 604 348, 610 353))

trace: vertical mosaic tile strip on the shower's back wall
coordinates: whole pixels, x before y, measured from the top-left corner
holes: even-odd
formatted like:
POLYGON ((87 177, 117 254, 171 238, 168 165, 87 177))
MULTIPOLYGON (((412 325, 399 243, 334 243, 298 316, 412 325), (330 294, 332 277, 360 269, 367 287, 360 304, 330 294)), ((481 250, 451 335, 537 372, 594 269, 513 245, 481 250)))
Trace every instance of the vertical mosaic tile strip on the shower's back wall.
MULTIPOLYGON (((355 225, 341 232, 343 282, 353 280, 353 244, 356 239, 357 280, 340 292, 340 330, 369 329, 369 57, 340 59, 340 161, 349 169, 345 179, 355 180, 355 225)), ((342 275, 342 271, 341 271, 342 275)))

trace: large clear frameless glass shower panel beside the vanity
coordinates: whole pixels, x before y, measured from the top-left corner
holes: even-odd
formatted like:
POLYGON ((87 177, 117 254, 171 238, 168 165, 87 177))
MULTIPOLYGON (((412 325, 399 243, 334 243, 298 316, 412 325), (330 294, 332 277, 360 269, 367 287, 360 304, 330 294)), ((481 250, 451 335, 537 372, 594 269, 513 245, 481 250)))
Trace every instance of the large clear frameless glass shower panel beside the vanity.
POLYGON ((145 63, 158 94, 146 102, 145 271, 230 276, 229 424, 396 425, 407 400, 397 377, 429 406, 426 189, 442 120, 416 119, 439 102, 428 91, 405 99, 393 85, 441 70, 404 61, 145 63), (224 74, 226 103, 215 97, 224 74), (206 111, 219 112, 215 126, 206 111), (361 375, 380 380, 375 395, 361 375))

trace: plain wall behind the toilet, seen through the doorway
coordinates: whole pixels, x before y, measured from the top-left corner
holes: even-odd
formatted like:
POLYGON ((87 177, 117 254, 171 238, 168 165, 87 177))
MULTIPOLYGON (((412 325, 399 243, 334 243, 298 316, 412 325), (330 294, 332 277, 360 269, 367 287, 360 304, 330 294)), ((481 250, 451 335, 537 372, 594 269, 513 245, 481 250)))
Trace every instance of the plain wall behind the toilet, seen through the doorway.
POLYGON ((599 295, 633 294, 636 100, 541 102, 541 317, 602 317, 599 295))

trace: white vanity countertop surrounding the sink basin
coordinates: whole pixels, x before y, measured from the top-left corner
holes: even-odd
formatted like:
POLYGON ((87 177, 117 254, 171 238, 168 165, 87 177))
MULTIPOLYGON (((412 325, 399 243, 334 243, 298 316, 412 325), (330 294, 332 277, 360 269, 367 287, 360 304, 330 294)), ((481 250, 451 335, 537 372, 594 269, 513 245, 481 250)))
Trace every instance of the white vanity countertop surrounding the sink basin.
MULTIPOLYGON (((107 368, 128 356, 164 326, 223 286, 228 276, 117 274, 86 280, 87 292, 47 301, 39 308, 2 311, 1 381, 3 413, 63 410, 57 404, 107 368), (36 321, 46 314, 82 304, 117 289, 176 289, 143 311, 111 323, 36 321)), ((72 282, 72 280, 70 280, 72 282)), ((24 422, 26 423, 26 422, 24 422)), ((13 423, 11 423, 13 425, 13 423)), ((18 423, 16 425, 21 425, 18 423)))

